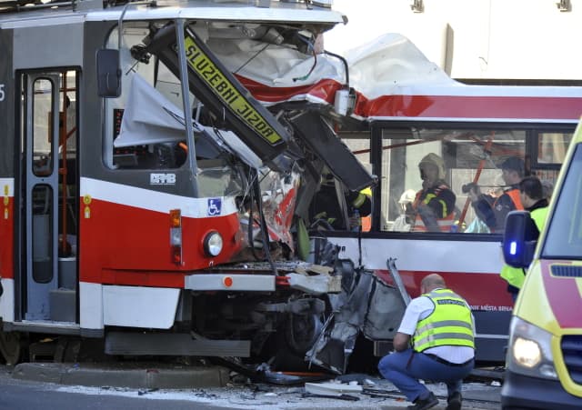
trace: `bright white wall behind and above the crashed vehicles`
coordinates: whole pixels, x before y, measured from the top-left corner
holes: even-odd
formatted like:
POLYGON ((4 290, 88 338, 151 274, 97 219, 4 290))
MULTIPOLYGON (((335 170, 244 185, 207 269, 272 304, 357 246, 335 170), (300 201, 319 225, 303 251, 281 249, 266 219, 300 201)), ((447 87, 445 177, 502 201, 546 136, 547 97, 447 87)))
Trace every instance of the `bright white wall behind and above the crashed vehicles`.
POLYGON ((412 3, 335 0, 348 23, 326 33, 326 49, 345 55, 400 33, 455 78, 582 80, 582 0, 570 12, 559 0, 424 0, 423 13, 412 3))

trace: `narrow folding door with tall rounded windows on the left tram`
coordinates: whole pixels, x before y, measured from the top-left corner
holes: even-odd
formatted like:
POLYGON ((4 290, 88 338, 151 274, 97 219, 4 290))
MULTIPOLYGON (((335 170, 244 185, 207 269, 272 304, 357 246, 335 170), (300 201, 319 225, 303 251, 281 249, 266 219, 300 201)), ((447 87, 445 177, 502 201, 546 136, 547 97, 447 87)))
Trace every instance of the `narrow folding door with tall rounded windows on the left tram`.
POLYGON ((75 322, 76 73, 21 75, 21 317, 75 322))

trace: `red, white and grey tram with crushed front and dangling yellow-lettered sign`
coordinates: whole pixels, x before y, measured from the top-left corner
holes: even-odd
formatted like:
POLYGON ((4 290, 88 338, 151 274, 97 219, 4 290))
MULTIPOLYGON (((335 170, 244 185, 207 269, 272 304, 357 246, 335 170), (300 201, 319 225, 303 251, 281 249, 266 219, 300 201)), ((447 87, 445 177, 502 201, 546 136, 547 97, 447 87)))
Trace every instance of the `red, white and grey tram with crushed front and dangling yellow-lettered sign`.
POLYGON ((0 8, 6 362, 61 335, 342 373, 361 331, 391 338, 395 288, 306 235, 322 173, 375 183, 334 132, 328 3, 0 8))

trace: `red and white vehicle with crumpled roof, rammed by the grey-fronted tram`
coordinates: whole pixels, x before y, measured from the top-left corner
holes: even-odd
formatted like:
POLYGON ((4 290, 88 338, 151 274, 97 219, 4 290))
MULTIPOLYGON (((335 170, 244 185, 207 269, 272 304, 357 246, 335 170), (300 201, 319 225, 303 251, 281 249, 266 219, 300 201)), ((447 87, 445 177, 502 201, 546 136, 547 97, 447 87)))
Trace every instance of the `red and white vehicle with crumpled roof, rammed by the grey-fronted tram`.
MULTIPOLYGON (((369 129, 338 135, 379 182, 373 187, 371 229, 362 235, 329 232, 326 238, 341 246, 341 257, 361 260, 387 283, 392 282, 386 260, 392 259, 411 296, 420 294, 425 275, 442 275, 471 305, 477 361, 502 363, 513 308, 499 275, 503 228, 487 225, 476 213, 469 187, 495 204, 511 187, 503 178, 504 163, 517 157, 523 175, 537 175, 551 195, 582 113, 580 82, 462 84, 397 34, 380 36, 346 59, 352 85, 361 93, 352 116, 365 118, 369 129), (439 180, 455 198, 447 204, 448 219, 432 228, 414 206, 423 188, 424 158, 436 161, 439 180)), ((375 346, 376 355, 390 348, 383 342, 375 346)))

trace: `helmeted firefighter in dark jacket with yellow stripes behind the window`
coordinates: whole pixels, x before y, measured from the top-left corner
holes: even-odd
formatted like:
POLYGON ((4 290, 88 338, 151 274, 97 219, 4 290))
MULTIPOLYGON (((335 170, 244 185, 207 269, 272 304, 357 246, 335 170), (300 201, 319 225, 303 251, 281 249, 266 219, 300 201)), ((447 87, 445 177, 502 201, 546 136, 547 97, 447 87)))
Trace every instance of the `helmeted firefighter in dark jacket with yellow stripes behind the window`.
POLYGON ((445 182, 445 161, 437 154, 426 155, 418 164, 422 189, 412 205, 415 213, 413 232, 450 232, 455 224, 457 195, 445 182))

